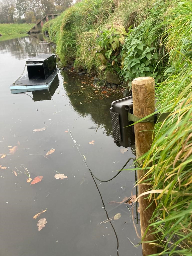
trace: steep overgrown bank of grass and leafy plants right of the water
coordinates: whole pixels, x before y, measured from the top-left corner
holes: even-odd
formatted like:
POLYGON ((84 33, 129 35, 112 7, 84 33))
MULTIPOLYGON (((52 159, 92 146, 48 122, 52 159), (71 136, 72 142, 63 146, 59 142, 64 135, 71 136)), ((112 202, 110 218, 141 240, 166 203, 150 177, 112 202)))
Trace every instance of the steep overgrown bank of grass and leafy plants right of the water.
POLYGON ((164 241, 156 255, 192 255, 191 20, 191 1, 86 0, 44 26, 64 66, 100 77, 110 71, 129 87, 153 76, 157 105, 172 112, 143 156, 153 189, 162 191, 151 220, 161 234, 154 243, 164 241))

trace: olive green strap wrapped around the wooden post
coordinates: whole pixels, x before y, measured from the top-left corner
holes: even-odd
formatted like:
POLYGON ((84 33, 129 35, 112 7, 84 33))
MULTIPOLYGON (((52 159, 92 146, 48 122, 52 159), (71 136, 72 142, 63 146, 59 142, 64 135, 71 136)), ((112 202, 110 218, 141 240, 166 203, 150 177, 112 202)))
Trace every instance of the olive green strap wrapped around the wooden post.
POLYGON ((144 119, 142 121, 140 121, 143 118, 138 118, 137 116, 128 113, 128 120, 129 121, 133 121, 134 123, 137 121, 140 121, 141 123, 146 123, 146 122, 152 122, 152 123, 159 123, 159 122, 163 122, 167 116, 170 114, 171 112, 166 112, 166 113, 157 113, 155 115, 152 115, 150 117, 148 117, 147 119, 144 119))

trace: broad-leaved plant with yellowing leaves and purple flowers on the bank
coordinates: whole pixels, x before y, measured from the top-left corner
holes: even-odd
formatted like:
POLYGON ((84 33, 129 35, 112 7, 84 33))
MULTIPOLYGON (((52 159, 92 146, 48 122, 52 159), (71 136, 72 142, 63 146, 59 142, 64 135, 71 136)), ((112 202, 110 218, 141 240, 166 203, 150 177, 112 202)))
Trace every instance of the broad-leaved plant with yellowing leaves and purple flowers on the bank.
MULTIPOLYGON (((92 47, 93 55, 99 56, 105 69, 107 66, 113 66, 115 71, 120 72, 122 46, 124 44, 124 36, 127 35, 123 26, 115 26, 106 29, 100 29, 96 35, 97 47, 92 47)), ((90 48, 89 48, 90 49, 90 48)))

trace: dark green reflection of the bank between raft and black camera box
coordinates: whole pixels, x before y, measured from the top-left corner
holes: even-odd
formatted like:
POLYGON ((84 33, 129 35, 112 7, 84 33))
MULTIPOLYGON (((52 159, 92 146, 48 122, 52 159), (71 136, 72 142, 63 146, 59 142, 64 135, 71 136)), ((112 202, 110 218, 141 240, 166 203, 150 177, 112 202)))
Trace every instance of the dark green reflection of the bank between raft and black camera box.
POLYGON ((91 129, 95 129, 96 132, 98 129, 105 129, 107 136, 112 135, 109 109, 111 102, 116 100, 118 95, 115 98, 114 96, 104 98, 101 94, 97 94, 97 88, 89 84, 82 84, 81 81, 85 79, 78 80, 77 78, 69 78, 65 73, 63 73, 63 76, 64 80, 68 82, 64 83, 63 86, 66 89, 71 106, 74 110, 84 118, 88 115, 91 117, 92 121, 96 124, 96 127, 91 127, 91 129), (85 89, 82 90, 82 88, 85 89))

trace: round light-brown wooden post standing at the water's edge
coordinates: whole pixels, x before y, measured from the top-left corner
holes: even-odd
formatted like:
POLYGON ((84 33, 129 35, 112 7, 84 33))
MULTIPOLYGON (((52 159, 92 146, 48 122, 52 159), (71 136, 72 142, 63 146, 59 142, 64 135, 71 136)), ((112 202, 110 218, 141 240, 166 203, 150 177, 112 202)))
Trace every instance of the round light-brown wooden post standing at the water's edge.
MULTIPOLYGON (((139 118, 143 118, 155 111, 155 81, 152 77, 139 77, 132 81, 133 92, 133 114, 139 118)), ((145 154, 151 148, 153 142, 153 129, 154 123, 137 123, 134 125, 135 129, 135 147, 136 159, 145 154)), ((142 164, 142 163, 140 163, 142 164)), ((144 170, 137 171, 137 178, 140 179, 144 176, 144 170)), ((139 194, 151 189, 151 185, 140 184, 138 185, 139 194)), ((155 209, 155 203, 148 201, 147 195, 139 199, 140 204, 140 223, 141 223, 141 236, 142 241, 155 240, 154 234, 148 230, 146 235, 145 231, 148 227, 149 220, 155 209), (148 205, 152 203, 150 207, 148 205), (147 208, 148 207, 148 208, 147 208), (146 209, 147 208, 147 209, 146 209)), ((157 247, 149 244, 142 243, 143 256, 157 253, 157 247)))

